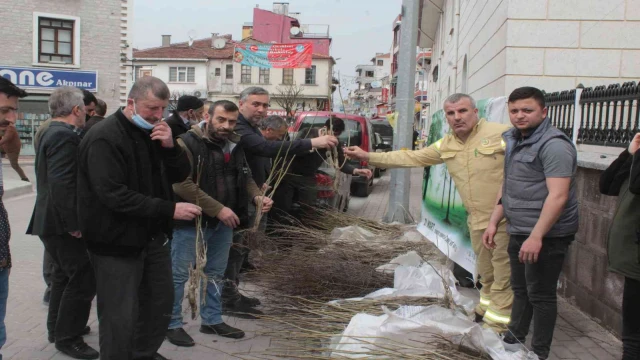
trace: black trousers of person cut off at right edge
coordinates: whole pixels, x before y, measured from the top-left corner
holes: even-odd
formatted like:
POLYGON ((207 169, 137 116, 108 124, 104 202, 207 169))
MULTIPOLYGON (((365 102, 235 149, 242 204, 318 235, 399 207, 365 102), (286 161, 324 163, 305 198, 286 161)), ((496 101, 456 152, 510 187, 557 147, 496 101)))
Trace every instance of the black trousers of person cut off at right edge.
POLYGON ((624 278, 622 295, 622 359, 640 359, 640 281, 624 278))

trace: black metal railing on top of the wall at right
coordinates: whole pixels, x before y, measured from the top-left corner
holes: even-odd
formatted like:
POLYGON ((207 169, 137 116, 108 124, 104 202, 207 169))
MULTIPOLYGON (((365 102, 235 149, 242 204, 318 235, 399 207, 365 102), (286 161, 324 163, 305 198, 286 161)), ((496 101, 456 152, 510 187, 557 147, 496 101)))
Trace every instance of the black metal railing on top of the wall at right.
POLYGON ((554 92, 545 98, 553 125, 578 144, 626 147, 640 129, 640 85, 635 81, 554 92))

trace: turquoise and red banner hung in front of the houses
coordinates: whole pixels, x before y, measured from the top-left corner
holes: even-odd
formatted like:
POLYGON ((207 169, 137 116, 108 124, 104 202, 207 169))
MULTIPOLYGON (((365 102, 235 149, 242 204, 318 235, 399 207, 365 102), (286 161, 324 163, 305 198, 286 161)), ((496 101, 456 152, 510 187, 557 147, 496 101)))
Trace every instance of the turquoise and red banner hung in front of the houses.
POLYGON ((312 44, 236 44, 233 61, 261 68, 309 68, 312 44))

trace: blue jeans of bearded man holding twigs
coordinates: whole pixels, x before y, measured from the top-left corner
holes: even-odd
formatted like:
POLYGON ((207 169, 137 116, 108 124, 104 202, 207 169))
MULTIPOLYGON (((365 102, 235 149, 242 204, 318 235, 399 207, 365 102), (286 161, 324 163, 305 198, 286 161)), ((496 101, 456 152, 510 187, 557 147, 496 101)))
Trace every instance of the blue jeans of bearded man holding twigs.
MULTIPOLYGON (((200 317, 202 325, 216 325, 222 323, 221 294, 224 271, 227 268, 229 249, 233 241, 233 229, 223 223, 215 228, 204 231, 204 241, 207 244, 207 265, 204 273, 207 276, 207 293, 204 306, 201 300, 200 317)), ((171 263, 173 267, 173 314, 169 329, 182 327, 182 300, 184 286, 189 279, 189 269, 196 263, 196 228, 177 227, 173 230, 171 242, 171 263)))

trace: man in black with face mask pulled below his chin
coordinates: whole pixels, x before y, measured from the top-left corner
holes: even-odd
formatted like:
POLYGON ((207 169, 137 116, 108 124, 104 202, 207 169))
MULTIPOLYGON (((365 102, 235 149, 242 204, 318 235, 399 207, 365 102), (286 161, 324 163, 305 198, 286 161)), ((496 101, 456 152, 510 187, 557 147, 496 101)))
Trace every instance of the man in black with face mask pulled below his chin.
POLYGON ((169 89, 138 80, 124 109, 80 143, 80 229, 93 263, 102 360, 164 359, 173 281, 172 220, 193 220, 200 207, 175 203, 171 184, 189 176, 189 159, 161 121, 169 89))

